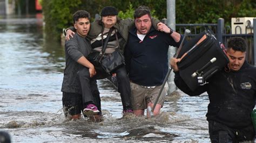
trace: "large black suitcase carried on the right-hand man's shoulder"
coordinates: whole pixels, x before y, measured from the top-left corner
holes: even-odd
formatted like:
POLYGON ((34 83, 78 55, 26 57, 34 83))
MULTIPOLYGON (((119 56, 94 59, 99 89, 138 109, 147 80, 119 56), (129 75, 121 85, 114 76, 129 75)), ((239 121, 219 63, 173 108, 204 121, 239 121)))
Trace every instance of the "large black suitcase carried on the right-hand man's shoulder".
POLYGON ((207 31, 188 41, 177 58, 181 58, 178 63, 180 76, 192 91, 206 84, 208 78, 229 62, 223 46, 207 31))

